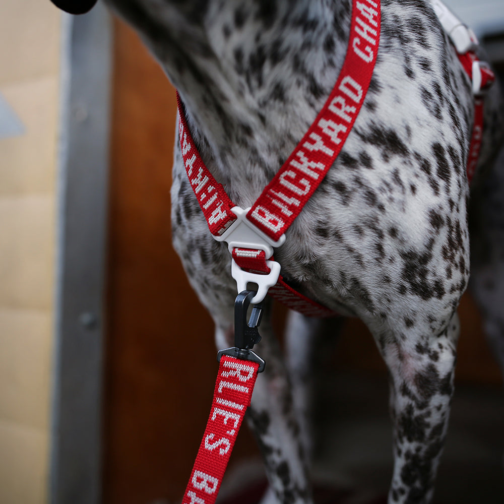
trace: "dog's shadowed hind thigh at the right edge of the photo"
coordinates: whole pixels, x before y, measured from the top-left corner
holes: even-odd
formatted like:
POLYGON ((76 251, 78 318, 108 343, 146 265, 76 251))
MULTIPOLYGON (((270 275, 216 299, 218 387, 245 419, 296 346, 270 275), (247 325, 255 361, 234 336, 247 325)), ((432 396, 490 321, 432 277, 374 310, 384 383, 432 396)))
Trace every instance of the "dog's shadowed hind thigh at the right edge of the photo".
POLYGON ((504 373, 504 150, 473 193, 470 287, 504 373))

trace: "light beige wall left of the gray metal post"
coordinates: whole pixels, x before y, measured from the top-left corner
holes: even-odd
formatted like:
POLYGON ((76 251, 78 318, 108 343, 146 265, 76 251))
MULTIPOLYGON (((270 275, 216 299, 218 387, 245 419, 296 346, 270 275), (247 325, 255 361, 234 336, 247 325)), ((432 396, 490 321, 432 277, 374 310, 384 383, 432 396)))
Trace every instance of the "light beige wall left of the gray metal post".
POLYGON ((60 14, 0 2, 0 93, 24 133, 0 138, 0 502, 47 501, 60 14))

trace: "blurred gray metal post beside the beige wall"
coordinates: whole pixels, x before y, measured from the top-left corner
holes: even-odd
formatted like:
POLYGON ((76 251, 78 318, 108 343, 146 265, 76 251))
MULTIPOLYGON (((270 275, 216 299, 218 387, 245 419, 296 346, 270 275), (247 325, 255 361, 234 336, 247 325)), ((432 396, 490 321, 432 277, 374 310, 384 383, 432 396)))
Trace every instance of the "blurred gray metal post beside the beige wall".
POLYGON ((112 30, 63 19, 49 502, 98 504, 112 30))

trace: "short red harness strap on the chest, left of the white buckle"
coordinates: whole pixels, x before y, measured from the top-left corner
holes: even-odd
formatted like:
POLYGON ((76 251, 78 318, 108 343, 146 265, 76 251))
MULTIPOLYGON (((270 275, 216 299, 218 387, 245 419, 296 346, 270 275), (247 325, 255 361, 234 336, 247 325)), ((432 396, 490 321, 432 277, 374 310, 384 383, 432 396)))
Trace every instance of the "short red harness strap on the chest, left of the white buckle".
POLYGON ((184 109, 177 92, 178 105, 178 133, 180 148, 184 161, 187 177, 191 182, 194 194, 198 199, 200 208, 207 219, 210 232, 221 235, 227 227, 236 220, 236 215, 231 212, 235 205, 224 191, 224 187, 217 183, 194 144, 193 137, 185 120, 184 109))

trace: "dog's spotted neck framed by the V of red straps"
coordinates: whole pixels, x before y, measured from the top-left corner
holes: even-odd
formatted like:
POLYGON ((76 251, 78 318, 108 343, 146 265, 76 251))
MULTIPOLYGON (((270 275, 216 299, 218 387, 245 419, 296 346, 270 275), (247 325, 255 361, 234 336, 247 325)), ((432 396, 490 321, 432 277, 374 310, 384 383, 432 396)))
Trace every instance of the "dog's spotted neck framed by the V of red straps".
POLYGON ((348 45, 351 0, 108 2, 178 89, 202 157, 230 193, 250 177, 264 186, 278 170, 331 92, 348 45))

